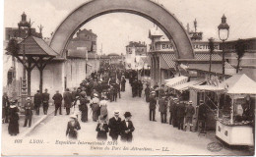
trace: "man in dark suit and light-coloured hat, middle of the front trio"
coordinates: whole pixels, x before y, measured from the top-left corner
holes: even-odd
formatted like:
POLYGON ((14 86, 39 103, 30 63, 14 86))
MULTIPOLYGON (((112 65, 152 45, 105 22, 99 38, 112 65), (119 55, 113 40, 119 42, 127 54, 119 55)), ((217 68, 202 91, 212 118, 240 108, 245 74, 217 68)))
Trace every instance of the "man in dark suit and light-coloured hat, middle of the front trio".
POLYGON ((108 128, 110 129, 109 135, 112 140, 117 140, 118 135, 121 132, 121 118, 119 118, 119 111, 114 112, 114 117, 109 119, 108 128))

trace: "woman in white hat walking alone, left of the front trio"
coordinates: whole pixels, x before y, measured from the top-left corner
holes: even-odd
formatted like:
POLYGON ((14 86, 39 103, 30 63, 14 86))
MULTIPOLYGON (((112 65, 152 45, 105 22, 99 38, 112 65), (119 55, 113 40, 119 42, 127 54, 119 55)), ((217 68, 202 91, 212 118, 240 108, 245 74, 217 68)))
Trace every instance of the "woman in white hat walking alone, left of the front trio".
POLYGON ((75 115, 71 115, 70 121, 68 122, 66 135, 70 139, 77 139, 79 130, 81 130, 81 127, 79 122, 77 121, 77 117, 75 115))

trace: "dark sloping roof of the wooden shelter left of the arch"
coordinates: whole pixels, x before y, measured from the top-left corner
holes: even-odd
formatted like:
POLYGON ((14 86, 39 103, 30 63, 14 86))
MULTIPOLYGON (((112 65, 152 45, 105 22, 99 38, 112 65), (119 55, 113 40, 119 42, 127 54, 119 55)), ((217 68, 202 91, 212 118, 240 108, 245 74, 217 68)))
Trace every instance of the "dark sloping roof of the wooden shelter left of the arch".
POLYGON ((24 47, 26 55, 33 56, 57 56, 56 53, 43 39, 28 36, 22 42, 19 43, 21 46, 18 55, 23 55, 24 47))

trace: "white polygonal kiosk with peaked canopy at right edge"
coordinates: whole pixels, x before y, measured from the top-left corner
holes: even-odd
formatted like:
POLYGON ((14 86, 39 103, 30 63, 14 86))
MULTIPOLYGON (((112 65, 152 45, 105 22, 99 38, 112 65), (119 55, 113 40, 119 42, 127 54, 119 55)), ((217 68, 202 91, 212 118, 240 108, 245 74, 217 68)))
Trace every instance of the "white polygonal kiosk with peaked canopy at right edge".
POLYGON ((229 145, 253 145, 256 82, 246 75, 234 75, 221 85, 231 101, 219 108, 217 137, 229 145))

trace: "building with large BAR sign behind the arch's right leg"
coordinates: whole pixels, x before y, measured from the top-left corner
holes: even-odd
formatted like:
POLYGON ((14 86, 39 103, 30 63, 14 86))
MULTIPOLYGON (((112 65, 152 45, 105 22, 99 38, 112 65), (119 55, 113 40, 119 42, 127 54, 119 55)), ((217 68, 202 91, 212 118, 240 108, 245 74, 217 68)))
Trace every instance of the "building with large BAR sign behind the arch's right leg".
MULTIPOLYGON (((196 77, 196 73, 208 73, 210 69, 210 46, 209 41, 202 41, 202 33, 189 31, 195 58, 190 61, 179 61, 173 41, 164 37, 158 27, 150 29, 149 38, 152 40, 150 44, 149 54, 152 61, 152 83, 164 83, 164 79, 173 78, 175 75, 187 75, 188 77, 196 77), (188 73, 188 71, 193 71, 188 73), (186 72, 185 74, 183 72, 186 72)), ((214 52, 212 54, 211 73, 222 74, 222 57, 221 42, 214 41, 214 52)), ((225 74, 232 75, 235 70, 228 63, 225 63, 225 74)))

